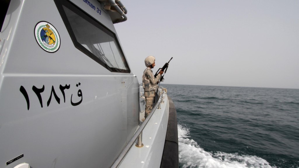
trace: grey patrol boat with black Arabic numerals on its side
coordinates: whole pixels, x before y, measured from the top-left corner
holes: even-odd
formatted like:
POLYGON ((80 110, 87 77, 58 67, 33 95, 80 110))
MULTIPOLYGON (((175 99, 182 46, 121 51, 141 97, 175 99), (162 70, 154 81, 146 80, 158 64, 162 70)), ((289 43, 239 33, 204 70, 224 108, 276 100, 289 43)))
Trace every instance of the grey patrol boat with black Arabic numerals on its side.
POLYGON ((178 167, 166 89, 151 115, 114 28, 115 0, 3 0, 0 167, 178 167), (174 155, 171 155, 174 154, 174 155))

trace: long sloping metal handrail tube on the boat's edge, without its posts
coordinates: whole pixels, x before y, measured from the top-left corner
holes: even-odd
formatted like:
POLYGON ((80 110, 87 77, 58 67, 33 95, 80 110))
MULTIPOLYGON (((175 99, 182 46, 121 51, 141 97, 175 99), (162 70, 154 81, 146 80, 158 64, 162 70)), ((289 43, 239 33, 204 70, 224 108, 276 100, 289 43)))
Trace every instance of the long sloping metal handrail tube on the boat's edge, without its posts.
MULTIPOLYGON (((164 90, 162 90, 164 92, 164 90)), ((133 146, 133 144, 135 143, 136 139, 139 137, 140 134, 142 134, 142 131, 144 129, 144 127, 147 125, 147 123, 149 122, 149 119, 152 117, 152 115, 154 114, 155 110, 158 108, 158 106, 160 106, 161 103, 161 98, 158 100, 158 102, 155 104, 155 106, 152 108, 152 111, 149 113, 149 115, 147 116, 147 118, 144 120, 144 122, 141 124, 141 126, 138 128, 137 132, 135 132, 134 136, 132 137, 132 139, 128 142, 128 144, 125 146, 125 148, 123 149, 123 151, 120 153, 120 155, 118 155, 118 158, 115 160, 115 162, 112 164, 111 168, 117 168, 119 166, 119 164, 121 163, 121 161, 123 160, 123 158, 126 156, 127 152, 129 151, 129 149, 133 146)))

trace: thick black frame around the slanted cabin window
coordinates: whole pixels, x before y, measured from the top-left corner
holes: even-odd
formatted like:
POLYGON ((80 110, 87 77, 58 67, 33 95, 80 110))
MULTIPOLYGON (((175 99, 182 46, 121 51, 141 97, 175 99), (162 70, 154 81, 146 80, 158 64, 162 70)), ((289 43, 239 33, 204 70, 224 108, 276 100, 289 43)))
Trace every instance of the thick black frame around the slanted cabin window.
POLYGON ((105 25, 103 25, 99 21, 95 20, 92 16, 90 16, 89 14, 87 14, 86 12, 84 12, 83 10, 81 10, 80 8, 78 8, 77 6, 72 4, 71 2, 66 1, 66 0, 54 0, 54 2, 57 6, 59 13, 60 13, 62 21, 63 21, 66 29, 68 30, 68 34, 70 35, 71 40, 74 43, 74 46, 79 51, 81 51, 84 54, 86 54, 87 56, 89 56, 91 59, 93 59, 95 62, 99 63, 100 65, 102 65, 104 68, 108 69, 110 72, 131 73, 129 64, 126 60, 126 57, 124 56, 123 50, 121 49, 120 43, 118 42, 118 38, 114 32, 109 30, 109 28, 107 28, 105 25), (115 40, 118 51, 120 52, 120 56, 121 56, 120 58, 123 59, 124 65, 127 69, 119 69, 119 68, 109 67, 109 65, 107 65, 105 62, 101 61, 96 55, 94 55, 91 51, 89 51, 87 48, 85 48, 83 45, 81 45, 76 39, 76 36, 71 28, 71 25, 68 21, 68 17, 66 16, 65 10, 63 9, 63 6, 68 8, 72 12, 76 13, 77 15, 79 15, 80 17, 85 19, 87 22, 89 22, 90 24, 97 27, 98 29, 102 30, 104 33, 111 36, 115 40))

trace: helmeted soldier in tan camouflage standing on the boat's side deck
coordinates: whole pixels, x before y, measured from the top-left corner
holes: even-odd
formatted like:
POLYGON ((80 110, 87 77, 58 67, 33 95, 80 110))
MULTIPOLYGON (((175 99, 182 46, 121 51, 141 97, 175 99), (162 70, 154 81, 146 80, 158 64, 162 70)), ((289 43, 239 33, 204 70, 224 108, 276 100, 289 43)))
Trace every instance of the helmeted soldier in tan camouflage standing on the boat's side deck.
POLYGON ((147 118, 149 113, 152 111, 153 107, 153 101, 155 99, 155 92, 158 88, 159 79, 161 78, 161 75, 163 74, 163 71, 160 71, 159 74, 154 77, 152 68, 155 67, 155 57, 154 56, 148 56, 144 60, 145 66, 147 68, 143 72, 142 76, 142 85, 144 89, 144 97, 145 97, 145 114, 144 118, 147 118))

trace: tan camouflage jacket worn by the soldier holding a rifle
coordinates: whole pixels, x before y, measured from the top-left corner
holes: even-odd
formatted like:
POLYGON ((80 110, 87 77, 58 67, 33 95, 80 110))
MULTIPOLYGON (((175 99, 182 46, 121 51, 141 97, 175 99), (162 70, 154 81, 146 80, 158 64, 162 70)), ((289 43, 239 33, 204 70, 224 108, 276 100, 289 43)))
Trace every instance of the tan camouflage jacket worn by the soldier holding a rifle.
MULTIPOLYGON (((160 78, 161 78, 160 74, 154 77, 154 75, 152 74, 152 70, 150 68, 146 68, 142 76, 142 85, 144 88, 144 94, 146 94, 145 93, 146 91, 153 91, 153 93, 155 93, 155 90, 158 87, 157 82, 159 81, 160 78)), ((147 96, 147 97, 152 97, 152 96, 147 96)))

